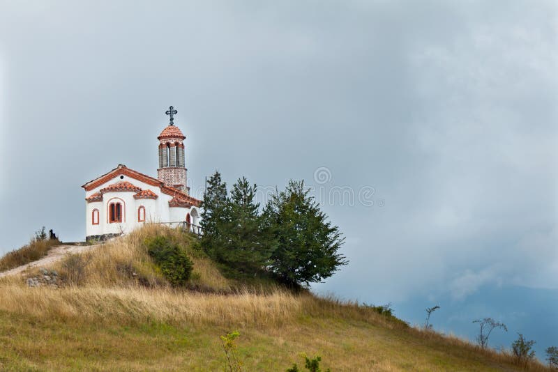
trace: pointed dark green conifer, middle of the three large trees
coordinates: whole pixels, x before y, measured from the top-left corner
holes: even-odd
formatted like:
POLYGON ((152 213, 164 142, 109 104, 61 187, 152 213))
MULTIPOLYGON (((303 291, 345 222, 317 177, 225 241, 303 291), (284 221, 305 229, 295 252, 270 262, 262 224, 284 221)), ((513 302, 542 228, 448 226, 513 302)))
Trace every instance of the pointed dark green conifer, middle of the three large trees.
POLYGON ((229 220, 223 224, 225 251, 221 257, 230 268, 243 274, 256 274, 269 264, 276 249, 276 238, 255 202, 257 186, 245 177, 233 185, 229 203, 229 220))

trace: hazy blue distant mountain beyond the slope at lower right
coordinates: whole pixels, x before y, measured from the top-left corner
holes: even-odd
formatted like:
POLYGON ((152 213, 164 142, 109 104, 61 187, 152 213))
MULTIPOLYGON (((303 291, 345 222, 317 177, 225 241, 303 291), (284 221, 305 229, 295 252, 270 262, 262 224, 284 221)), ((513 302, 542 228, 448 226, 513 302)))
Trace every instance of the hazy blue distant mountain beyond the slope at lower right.
POLYGON ((518 332, 536 341, 534 350, 541 360, 545 359, 548 346, 558 346, 558 290, 485 286, 463 300, 454 300, 451 295, 430 298, 433 300, 414 297, 395 303, 395 314, 412 324, 423 324, 425 308, 439 304, 441 309, 430 317, 435 330, 474 341, 478 325, 472 321, 492 317, 508 327, 508 332, 495 330, 490 335, 489 343, 493 348, 510 348, 518 332))

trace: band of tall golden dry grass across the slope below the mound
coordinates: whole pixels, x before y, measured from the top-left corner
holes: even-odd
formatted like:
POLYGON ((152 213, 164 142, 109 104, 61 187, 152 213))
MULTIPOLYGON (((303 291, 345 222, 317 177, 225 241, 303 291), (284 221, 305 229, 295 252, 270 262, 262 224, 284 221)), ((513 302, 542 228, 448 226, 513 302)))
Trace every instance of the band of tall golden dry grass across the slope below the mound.
POLYGON ((33 318, 86 323, 145 322, 226 327, 280 327, 305 318, 363 321, 383 327, 402 325, 350 302, 331 301, 308 293, 276 290, 234 295, 197 293, 172 288, 102 288, 70 286, 61 290, 0 286, 0 311, 33 318))

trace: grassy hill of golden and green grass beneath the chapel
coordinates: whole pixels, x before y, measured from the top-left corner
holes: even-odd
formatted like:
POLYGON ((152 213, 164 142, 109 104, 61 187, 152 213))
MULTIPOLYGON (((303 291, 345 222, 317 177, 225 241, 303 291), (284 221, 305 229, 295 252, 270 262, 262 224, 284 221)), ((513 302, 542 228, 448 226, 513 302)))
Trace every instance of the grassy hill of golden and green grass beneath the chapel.
POLYGON ((408 327, 371 307, 227 279, 196 238, 160 226, 49 269, 62 288, 0 280, 0 370, 220 371, 220 335, 233 330, 243 371, 300 367, 301 352, 320 355, 331 371, 521 370, 506 353, 408 327), (169 286, 151 261, 144 240, 155 235, 188 252, 187 288, 169 286))

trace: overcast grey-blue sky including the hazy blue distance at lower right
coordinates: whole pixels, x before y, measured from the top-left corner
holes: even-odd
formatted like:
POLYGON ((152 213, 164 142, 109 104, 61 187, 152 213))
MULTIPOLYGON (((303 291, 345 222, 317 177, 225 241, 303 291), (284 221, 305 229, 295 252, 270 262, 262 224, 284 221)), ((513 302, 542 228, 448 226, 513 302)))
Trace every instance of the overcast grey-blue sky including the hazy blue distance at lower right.
POLYGON ((156 176, 173 105, 195 196, 312 187, 350 261, 318 292, 556 313, 557 38, 550 0, 0 0, 0 253, 83 240, 80 186, 156 176))

